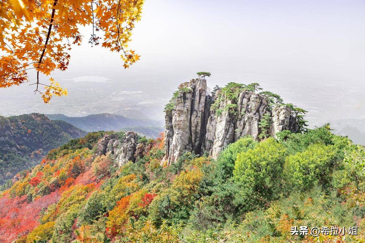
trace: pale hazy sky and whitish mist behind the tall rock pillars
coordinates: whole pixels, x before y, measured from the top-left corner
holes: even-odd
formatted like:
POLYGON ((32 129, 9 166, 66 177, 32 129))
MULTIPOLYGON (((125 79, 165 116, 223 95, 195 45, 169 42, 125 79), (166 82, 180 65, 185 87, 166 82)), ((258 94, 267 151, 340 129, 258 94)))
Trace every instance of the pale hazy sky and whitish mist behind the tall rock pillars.
MULTIPOLYGON (((208 86, 258 82, 309 110, 312 125, 365 118, 364 30, 364 0, 146 0, 130 44, 141 55, 138 63, 124 70, 118 54, 90 48, 91 28, 82 28, 84 43, 71 51, 69 69, 53 75, 66 85, 69 97, 44 105, 28 98, 27 85, 0 90, 0 102, 19 110, 5 107, 2 112, 58 113, 60 104, 88 95, 73 87, 80 85, 74 81, 89 79, 169 99, 178 84, 195 78, 197 71, 210 71, 208 86), (17 90, 22 92, 9 95, 17 90), (19 105, 19 96, 28 102, 19 105)), ((92 94, 88 97, 93 99, 92 94)), ((77 109, 65 113, 87 113, 77 109)))

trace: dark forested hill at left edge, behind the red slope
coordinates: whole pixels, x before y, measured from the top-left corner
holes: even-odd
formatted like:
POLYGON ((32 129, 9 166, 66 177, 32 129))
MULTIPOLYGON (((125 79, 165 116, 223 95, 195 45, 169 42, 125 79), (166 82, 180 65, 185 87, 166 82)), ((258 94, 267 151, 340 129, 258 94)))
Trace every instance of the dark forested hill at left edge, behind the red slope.
POLYGON ((39 162, 51 149, 86 132, 43 114, 0 116, 0 184, 39 162))

